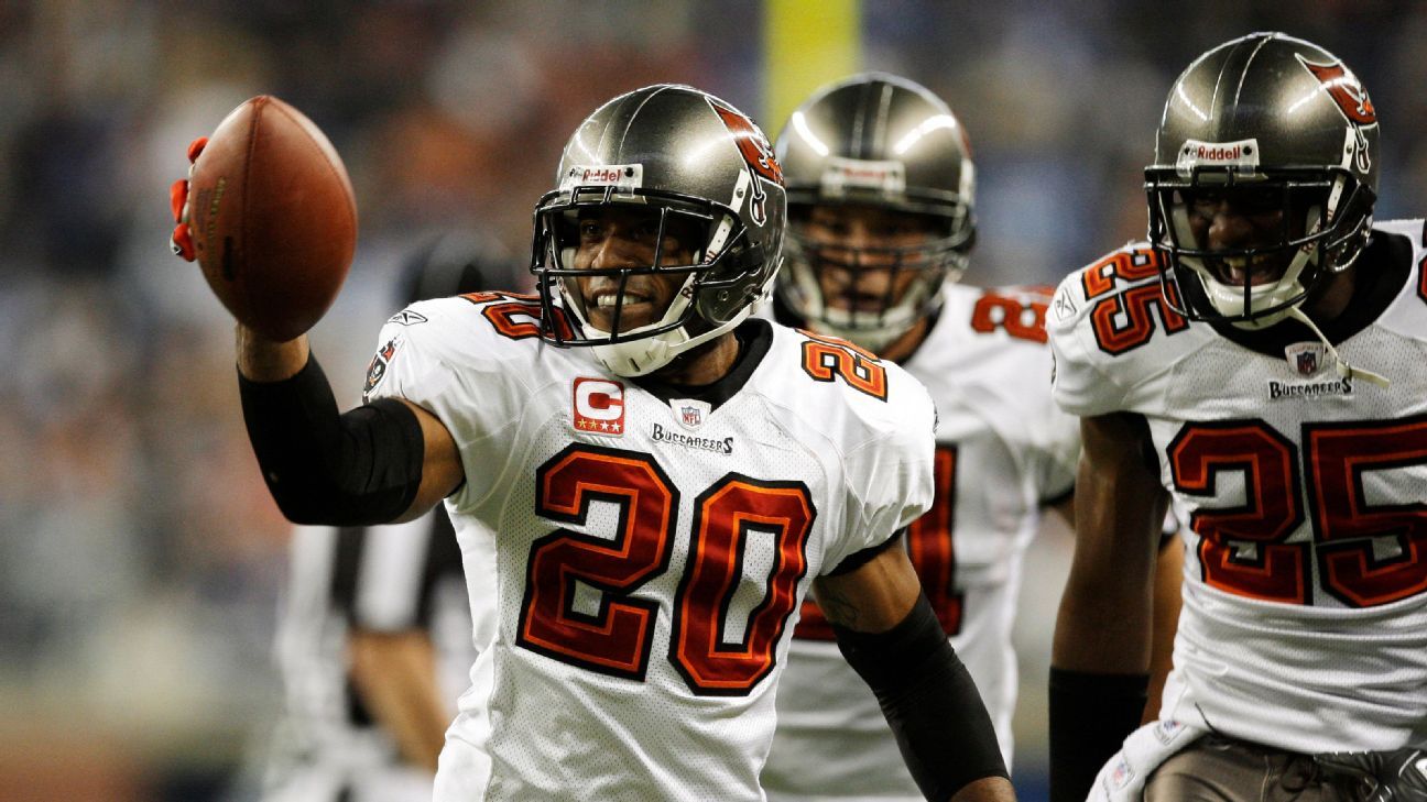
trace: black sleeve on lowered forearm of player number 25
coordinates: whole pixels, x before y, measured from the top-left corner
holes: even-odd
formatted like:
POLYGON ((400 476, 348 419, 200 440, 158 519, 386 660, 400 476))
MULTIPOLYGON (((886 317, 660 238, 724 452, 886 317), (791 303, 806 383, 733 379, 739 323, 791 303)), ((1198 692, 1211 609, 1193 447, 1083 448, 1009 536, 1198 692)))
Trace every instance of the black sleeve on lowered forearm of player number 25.
POLYGON ((1140 725, 1147 674, 1050 668, 1050 802, 1083 802, 1095 775, 1140 725))

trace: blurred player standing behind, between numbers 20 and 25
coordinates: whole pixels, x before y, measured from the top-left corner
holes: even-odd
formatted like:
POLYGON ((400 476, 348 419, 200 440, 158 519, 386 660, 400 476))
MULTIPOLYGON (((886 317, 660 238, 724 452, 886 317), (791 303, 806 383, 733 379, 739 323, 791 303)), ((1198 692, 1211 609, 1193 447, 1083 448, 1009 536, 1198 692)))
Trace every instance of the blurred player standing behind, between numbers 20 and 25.
MULTIPOLYGON (((895 361, 932 392, 936 495, 905 547, 1009 765, 1022 559, 1043 509, 1069 519, 1080 448, 1050 400, 1049 288, 958 284, 976 240, 970 143, 915 81, 866 73, 819 88, 776 153, 789 231, 773 317, 895 361)), ((763 771, 772 799, 919 798, 860 685, 803 602, 763 771)))

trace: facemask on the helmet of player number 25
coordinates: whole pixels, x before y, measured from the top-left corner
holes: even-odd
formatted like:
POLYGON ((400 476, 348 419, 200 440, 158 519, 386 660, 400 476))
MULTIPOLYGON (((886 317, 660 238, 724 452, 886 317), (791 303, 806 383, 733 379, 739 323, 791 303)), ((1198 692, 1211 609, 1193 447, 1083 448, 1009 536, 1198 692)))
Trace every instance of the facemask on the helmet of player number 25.
POLYGON ((1293 315, 1347 270, 1371 227, 1371 190, 1343 170, 1146 171, 1150 243, 1164 254, 1170 307, 1190 320, 1264 328, 1293 315), (1210 248, 1214 207, 1227 203, 1253 233, 1210 248))

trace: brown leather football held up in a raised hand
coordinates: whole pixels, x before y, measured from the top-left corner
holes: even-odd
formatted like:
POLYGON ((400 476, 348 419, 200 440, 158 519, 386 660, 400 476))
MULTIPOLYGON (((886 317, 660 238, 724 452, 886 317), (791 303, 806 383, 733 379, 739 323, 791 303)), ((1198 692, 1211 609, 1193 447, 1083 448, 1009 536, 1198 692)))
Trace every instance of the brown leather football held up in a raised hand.
POLYGON ((332 304, 357 248, 342 160, 301 111, 260 94, 208 137, 188 190, 194 254, 240 323, 293 340, 332 304))

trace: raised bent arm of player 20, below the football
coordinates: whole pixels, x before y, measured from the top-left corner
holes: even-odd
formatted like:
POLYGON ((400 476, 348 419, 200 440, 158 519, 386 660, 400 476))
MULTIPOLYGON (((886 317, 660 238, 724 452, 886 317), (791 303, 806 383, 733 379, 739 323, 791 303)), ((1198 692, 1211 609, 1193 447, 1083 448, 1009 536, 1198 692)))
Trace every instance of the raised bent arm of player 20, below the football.
POLYGON ((378 400, 340 414, 307 335, 277 342, 238 324, 238 374, 263 478, 294 522, 410 521, 461 484, 455 441, 431 412, 378 400))

